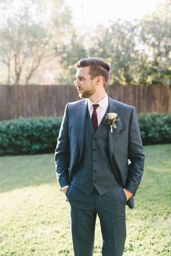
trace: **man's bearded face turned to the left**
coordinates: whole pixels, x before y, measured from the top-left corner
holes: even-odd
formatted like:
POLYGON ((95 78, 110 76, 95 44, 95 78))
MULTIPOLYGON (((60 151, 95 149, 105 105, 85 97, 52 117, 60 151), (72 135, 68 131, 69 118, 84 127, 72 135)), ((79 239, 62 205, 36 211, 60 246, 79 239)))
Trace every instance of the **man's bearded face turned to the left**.
POLYGON ((91 79, 90 67, 79 67, 76 73, 75 87, 80 98, 90 98, 96 92, 95 79, 91 79))

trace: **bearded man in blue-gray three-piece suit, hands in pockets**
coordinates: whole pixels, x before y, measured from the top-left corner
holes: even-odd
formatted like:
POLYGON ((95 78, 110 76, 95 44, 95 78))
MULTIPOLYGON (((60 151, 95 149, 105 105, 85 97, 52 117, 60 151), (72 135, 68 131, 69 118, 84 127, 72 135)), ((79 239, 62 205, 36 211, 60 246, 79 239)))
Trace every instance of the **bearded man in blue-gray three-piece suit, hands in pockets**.
POLYGON ((82 99, 67 104, 55 163, 61 190, 70 203, 75 256, 92 256, 96 215, 103 256, 122 256, 125 205, 143 174, 143 146, 135 108, 105 92, 110 66, 103 59, 80 59, 75 88, 82 99))

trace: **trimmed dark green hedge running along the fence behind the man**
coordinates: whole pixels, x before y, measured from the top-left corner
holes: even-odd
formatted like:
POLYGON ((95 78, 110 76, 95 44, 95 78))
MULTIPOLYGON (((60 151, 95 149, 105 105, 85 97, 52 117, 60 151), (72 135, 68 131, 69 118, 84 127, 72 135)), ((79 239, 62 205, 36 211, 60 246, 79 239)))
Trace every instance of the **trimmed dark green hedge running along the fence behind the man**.
MULTIPOLYGON (((51 153, 62 117, 30 117, 0 122, 0 155, 51 153)), ((139 115, 143 145, 171 143, 171 114, 139 115)))

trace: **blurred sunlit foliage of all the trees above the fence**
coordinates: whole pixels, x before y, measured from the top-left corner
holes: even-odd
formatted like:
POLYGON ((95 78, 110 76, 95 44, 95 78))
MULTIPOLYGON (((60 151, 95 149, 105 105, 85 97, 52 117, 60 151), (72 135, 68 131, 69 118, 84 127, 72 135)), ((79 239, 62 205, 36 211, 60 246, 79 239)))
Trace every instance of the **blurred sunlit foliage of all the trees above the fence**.
POLYGON ((111 85, 170 85, 170 0, 141 20, 84 33, 64 0, 23 0, 20 9, 16 2, 0 3, 0 83, 72 84, 75 62, 94 56, 111 63, 111 85))

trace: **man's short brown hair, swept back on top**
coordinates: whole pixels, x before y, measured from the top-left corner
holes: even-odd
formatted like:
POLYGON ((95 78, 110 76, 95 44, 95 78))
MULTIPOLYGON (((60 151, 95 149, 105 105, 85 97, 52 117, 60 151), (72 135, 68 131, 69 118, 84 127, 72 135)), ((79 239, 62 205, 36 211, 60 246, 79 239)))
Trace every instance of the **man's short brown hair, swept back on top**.
POLYGON ((77 63, 75 63, 74 67, 76 70, 79 67, 90 67, 89 74, 91 75, 91 79, 101 75, 104 78, 104 88, 106 88, 107 84, 109 83, 110 66, 104 59, 95 57, 80 59, 77 63))

